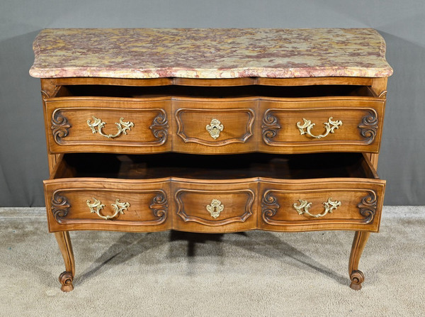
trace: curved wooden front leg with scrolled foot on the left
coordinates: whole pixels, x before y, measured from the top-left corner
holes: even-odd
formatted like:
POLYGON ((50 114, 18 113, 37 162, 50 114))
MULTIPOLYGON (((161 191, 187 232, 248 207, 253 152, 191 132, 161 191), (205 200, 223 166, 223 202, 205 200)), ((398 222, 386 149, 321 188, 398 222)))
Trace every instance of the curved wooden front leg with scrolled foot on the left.
POLYGON ((59 282, 62 284, 62 291, 72 291, 74 286, 72 280, 75 276, 74 252, 72 252, 71 239, 68 231, 60 231, 55 233, 57 244, 59 245, 62 257, 64 257, 65 272, 59 276, 59 282))

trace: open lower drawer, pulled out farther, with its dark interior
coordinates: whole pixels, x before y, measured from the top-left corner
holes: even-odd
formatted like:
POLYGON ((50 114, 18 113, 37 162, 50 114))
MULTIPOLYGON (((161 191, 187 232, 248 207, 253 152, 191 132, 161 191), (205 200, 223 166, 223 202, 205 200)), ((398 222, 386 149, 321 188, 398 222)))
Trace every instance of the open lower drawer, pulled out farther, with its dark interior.
POLYGON ((360 153, 65 154, 50 231, 378 231, 385 181, 360 153))

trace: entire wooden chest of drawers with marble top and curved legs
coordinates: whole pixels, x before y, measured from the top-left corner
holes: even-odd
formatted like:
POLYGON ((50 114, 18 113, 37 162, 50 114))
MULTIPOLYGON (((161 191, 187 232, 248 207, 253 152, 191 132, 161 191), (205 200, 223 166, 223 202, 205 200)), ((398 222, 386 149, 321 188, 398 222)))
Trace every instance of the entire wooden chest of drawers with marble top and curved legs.
POLYGON ((387 77, 372 29, 53 29, 34 42, 49 230, 378 232, 387 77))

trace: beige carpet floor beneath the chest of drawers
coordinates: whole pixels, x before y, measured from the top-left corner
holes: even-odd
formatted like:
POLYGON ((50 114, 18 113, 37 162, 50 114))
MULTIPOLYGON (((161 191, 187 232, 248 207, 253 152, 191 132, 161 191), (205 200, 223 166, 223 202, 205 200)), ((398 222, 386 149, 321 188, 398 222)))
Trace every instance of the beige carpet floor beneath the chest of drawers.
POLYGON ((72 232, 74 291, 44 208, 0 208, 0 316, 425 316, 425 207, 386 206, 348 287, 353 232, 72 232))

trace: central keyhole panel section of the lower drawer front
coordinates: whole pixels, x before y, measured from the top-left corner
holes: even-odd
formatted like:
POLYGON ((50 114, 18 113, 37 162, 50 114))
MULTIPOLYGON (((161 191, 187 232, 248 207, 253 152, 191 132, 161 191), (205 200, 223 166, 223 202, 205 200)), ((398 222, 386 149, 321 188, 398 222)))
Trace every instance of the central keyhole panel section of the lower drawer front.
POLYGON ((222 233, 256 228, 256 182, 173 183, 174 228, 222 233))

